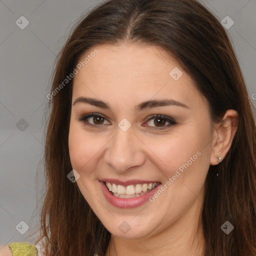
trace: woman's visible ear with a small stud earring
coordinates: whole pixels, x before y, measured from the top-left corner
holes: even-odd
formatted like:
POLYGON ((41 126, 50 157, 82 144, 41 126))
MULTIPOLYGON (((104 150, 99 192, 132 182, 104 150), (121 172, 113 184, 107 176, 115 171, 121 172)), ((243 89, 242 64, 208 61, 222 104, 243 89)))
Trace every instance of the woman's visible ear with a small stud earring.
POLYGON ((218 164, 226 156, 237 130, 238 113, 234 109, 226 110, 222 122, 214 127, 212 149, 210 155, 210 164, 218 164), (217 158, 220 156, 221 160, 217 158))

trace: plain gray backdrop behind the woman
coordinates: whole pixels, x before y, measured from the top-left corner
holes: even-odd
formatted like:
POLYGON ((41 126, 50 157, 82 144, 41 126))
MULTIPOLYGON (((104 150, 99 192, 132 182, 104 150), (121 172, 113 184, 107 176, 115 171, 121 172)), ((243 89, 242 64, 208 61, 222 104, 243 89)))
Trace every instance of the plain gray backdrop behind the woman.
MULTIPOLYGON (((71 27, 99 2, 0 0, 0 249, 13 241, 34 242, 36 235, 29 238, 28 234, 38 222, 36 202, 43 191, 44 107, 49 78, 71 27), (24 29, 15 23, 20 22, 20 16, 29 21, 24 29), (24 234, 16 229, 20 221, 29 226, 24 234)), ((226 31, 255 106, 256 0, 201 2, 219 21, 225 16, 234 21, 226 31)))

